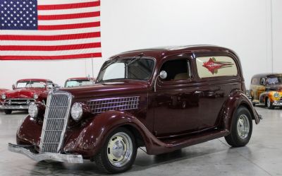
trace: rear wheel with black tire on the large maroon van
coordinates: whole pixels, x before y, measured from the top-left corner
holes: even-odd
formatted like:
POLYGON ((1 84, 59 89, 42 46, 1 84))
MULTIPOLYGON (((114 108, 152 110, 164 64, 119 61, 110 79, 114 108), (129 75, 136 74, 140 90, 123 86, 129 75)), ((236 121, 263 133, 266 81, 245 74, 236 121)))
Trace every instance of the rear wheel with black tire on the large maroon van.
POLYGON ((231 134, 225 136, 226 142, 233 147, 245 146, 252 136, 252 116, 246 107, 238 107, 233 115, 231 134))

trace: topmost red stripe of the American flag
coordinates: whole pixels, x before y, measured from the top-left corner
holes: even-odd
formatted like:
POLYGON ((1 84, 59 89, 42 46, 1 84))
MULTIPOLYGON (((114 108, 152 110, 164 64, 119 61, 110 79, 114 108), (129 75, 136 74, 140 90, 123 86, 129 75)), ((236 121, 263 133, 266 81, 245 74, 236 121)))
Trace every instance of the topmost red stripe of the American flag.
POLYGON ((93 7, 100 6, 100 1, 94 2, 85 2, 85 3, 76 3, 76 4, 55 4, 55 5, 43 5, 37 6, 38 10, 58 10, 58 9, 68 9, 68 8, 85 8, 85 7, 93 7))

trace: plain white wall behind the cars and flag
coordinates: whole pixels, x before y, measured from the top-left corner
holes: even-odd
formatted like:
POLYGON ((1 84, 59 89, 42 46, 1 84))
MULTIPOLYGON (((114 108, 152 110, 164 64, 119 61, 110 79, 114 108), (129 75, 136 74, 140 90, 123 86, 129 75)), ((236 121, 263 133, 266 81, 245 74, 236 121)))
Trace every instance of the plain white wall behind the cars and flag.
MULTIPOLYGON (((271 11, 269 0, 102 0, 103 58, 94 59, 94 76, 104 60, 118 52, 211 44, 238 53, 248 87, 253 74, 272 71, 271 19, 277 25, 274 35, 282 36, 282 15, 278 11, 282 3, 274 0, 273 4, 275 12, 271 11), (275 18, 271 18, 271 13, 275 18)), ((274 44, 281 46, 279 41, 281 38, 274 44)), ((280 48, 273 49, 278 52, 280 48)), ((276 54, 274 61, 281 62, 276 54)), ((66 78, 87 74, 92 75, 91 59, 0 61, 1 88, 11 88, 19 78, 33 77, 50 78, 63 85, 66 78)))

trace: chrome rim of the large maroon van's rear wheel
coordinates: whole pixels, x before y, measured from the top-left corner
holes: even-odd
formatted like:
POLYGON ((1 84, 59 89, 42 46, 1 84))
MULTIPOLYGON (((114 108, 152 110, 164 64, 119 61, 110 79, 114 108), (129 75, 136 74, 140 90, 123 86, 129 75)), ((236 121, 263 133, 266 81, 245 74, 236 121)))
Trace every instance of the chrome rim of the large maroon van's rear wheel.
POLYGON ((246 139, 250 132, 250 122, 247 115, 240 115, 237 121, 237 132, 240 139, 246 139))

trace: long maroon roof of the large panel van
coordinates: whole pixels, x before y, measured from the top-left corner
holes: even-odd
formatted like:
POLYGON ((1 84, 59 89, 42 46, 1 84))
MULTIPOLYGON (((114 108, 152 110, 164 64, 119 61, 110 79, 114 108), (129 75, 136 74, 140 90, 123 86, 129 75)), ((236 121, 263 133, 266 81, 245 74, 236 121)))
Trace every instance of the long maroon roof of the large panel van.
POLYGON ((133 57, 140 54, 143 54, 145 57, 154 57, 155 59, 162 59, 170 54, 197 53, 197 52, 226 52, 236 55, 235 52, 233 52, 231 49, 228 49, 226 47, 218 47, 215 45, 187 45, 187 46, 137 49, 137 50, 116 54, 110 59, 114 59, 116 57, 133 57))

